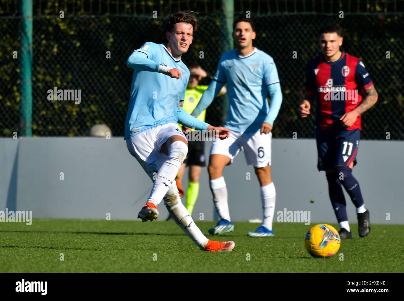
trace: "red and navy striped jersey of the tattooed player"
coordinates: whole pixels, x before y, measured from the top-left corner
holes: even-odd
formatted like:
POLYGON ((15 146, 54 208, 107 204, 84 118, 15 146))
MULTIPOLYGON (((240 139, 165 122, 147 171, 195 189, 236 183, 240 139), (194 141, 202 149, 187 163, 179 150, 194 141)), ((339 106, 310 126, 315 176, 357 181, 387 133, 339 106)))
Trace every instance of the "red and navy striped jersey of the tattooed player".
MULTIPOLYGON (((341 127, 339 118, 360 104, 361 91, 372 84, 362 61, 345 52, 335 62, 326 61, 324 55, 309 61, 305 88, 307 91, 317 91, 316 128, 325 131, 341 127)), ((355 128, 362 130, 361 115, 347 129, 355 128)))

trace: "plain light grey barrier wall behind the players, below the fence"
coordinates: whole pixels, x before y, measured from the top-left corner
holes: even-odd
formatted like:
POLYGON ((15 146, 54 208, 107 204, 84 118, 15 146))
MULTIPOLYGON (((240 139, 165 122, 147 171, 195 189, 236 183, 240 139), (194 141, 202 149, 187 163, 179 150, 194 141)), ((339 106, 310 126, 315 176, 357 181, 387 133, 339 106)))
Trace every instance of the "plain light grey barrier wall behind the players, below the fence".
MULTIPOLYGON (((206 157, 210 145, 206 142, 206 157)), ((360 141, 353 175, 360 183, 372 223, 404 223, 403 155, 404 141, 360 141), (386 220, 388 213, 390 220, 386 220)), ((273 139, 275 211, 310 210, 311 223, 335 223, 325 174, 317 171, 316 160, 314 139, 273 139)), ((244 154, 225 168, 224 177, 231 218, 262 219, 259 184, 252 166, 246 166, 244 154)), ((122 137, 0 138, 0 210, 32 210, 34 217, 74 219, 105 219, 110 213, 111 219, 135 220, 151 187, 122 137)), ((349 196, 345 197, 349 220, 356 223, 355 208, 349 196)), ((164 220, 168 213, 163 204, 159 210, 160 220, 164 220)), ((204 220, 211 221, 213 212, 204 168, 193 216, 198 220, 203 213, 204 220)))

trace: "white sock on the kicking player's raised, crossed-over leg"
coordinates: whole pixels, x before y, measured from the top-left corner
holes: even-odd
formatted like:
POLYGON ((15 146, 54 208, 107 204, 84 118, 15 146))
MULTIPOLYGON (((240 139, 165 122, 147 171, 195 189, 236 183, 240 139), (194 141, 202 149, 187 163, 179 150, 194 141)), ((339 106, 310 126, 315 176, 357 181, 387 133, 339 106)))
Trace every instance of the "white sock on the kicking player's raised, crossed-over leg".
POLYGON ((154 181, 153 188, 147 202, 160 204, 163 197, 173 185, 175 176, 178 174, 181 164, 184 162, 188 153, 187 145, 182 141, 174 141, 168 147, 167 160, 158 170, 156 180, 154 181))

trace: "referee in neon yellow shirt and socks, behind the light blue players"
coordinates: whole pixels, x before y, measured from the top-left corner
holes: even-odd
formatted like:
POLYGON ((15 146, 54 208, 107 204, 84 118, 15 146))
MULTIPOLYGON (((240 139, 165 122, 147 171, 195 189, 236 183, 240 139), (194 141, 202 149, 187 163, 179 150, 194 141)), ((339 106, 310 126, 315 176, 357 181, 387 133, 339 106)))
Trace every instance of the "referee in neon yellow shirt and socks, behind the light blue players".
MULTIPOLYGON (((189 72, 191 75, 189 76, 189 82, 187 85, 187 90, 185 91, 185 98, 183 109, 191 114, 192 111, 198 105, 200 99, 202 98, 202 94, 208 88, 208 86, 200 86, 198 85, 199 81, 206 77, 206 71, 201 68, 198 64, 193 64, 188 66, 189 72)), ((226 87, 223 86, 219 95, 217 97, 226 93, 226 87)), ((201 121, 205 121, 206 110, 204 110, 199 116, 198 119, 201 121)), ((182 126, 183 133, 187 133, 188 131, 194 131, 187 126, 182 126)), ((201 135, 202 136, 202 135, 201 135)), ((205 163, 205 141, 188 141, 188 155, 184 160, 184 163, 181 165, 179 169, 179 173, 175 179, 177 183, 177 188, 179 190, 179 194, 181 197, 184 196, 184 189, 182 187, 181 181, 185 172, 185 167, 189 166, 189 184, 187 189, 187 210, 190 215, 192 215, 192 210, 194 210, 194 205, 196 203, 196 199, 198 198, 199 193, 199 175, 201 173, 202 167, 206 166, 205 163)), ((168 219, 167 219, 168 220, 168 219)))

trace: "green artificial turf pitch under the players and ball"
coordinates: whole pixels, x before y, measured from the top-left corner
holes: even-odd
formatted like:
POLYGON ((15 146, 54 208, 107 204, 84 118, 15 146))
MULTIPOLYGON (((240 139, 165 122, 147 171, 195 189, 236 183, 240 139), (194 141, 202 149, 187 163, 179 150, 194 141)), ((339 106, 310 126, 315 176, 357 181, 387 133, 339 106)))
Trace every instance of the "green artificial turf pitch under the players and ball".
MULTIPOLYGON (((197 225, 207 234, 215 224, 197 225)), ((274 237, 248 237, 257 226, 234 223, 233 233, 213 238, 233 240, 233 251, 209 253, 173 221, 2 222, 0 272, 404 272, 404 225, 372 225, 368 237, 360 238, 352 224, 353 240, 343 240, 338 254, 327 259, 312 258, 305 249, 313 225, 274 223, 274 237)))

